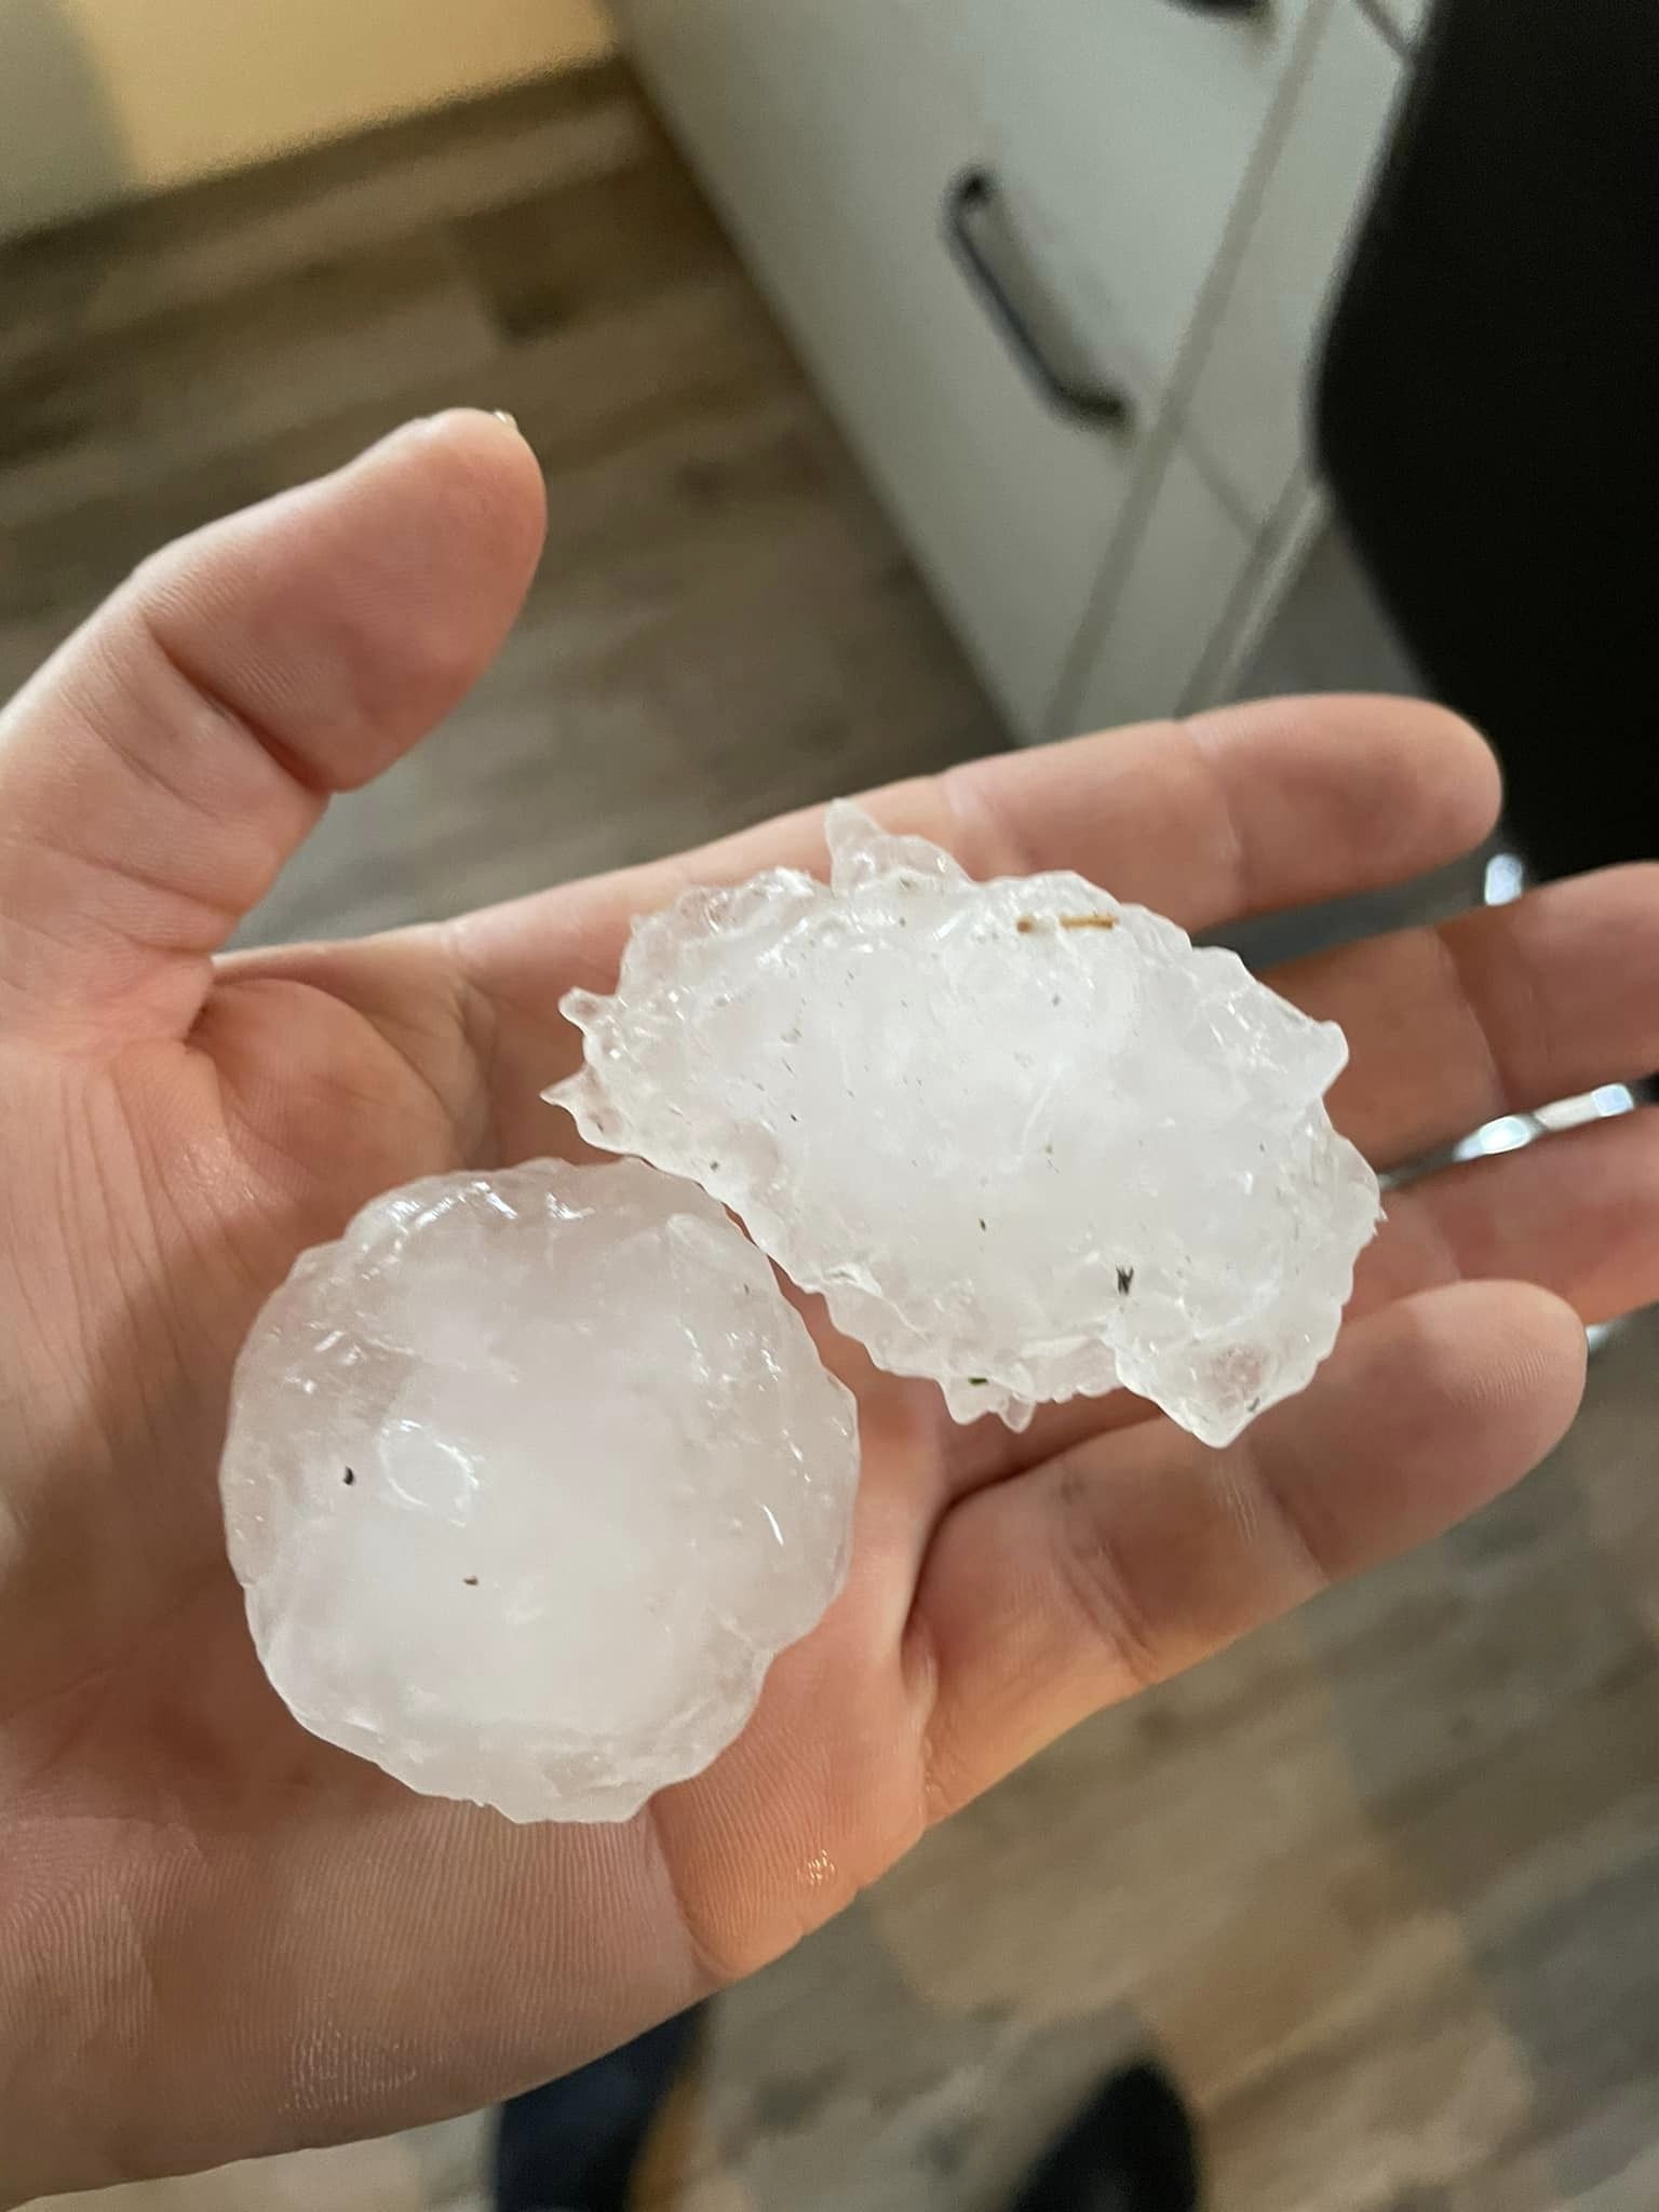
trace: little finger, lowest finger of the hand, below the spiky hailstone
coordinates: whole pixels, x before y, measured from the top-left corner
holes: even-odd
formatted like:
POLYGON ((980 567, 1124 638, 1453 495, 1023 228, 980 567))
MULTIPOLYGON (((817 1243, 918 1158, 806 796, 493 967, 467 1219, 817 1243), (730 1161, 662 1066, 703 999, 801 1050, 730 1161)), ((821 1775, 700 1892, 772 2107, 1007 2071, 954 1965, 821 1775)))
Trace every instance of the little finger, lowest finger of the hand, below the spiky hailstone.
POLYGON ((1144 1422, 964 1498, 907 1628, 933 1816, 1473 1513, 1559 1442, 1582 1391, 1568 1305, 1471 1283, 1363 1321, 1228 1451, 1144 1422))

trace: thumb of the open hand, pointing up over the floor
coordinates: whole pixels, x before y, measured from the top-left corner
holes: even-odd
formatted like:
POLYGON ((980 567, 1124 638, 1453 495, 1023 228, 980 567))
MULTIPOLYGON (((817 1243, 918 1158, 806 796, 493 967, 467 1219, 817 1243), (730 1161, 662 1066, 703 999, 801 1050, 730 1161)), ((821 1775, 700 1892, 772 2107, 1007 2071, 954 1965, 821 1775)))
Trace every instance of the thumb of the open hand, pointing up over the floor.
POLYGON ((146 562, 0 714, 0 1024, 184 1035, 330 794, 489 666, 542 529, 522 438, 449 414, 146 562))

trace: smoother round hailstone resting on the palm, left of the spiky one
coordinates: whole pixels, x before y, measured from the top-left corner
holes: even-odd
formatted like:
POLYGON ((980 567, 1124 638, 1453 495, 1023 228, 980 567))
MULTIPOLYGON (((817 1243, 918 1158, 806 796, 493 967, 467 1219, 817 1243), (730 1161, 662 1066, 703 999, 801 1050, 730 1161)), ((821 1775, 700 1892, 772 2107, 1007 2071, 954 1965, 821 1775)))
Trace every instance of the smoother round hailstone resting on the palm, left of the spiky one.
POLYGON ((513 1820, 706 1767, 841 1588, 856 1482, 765 1259, 639 1161, 378 1199, 265 1307, 223 1462, 292 1712, 513 1820))

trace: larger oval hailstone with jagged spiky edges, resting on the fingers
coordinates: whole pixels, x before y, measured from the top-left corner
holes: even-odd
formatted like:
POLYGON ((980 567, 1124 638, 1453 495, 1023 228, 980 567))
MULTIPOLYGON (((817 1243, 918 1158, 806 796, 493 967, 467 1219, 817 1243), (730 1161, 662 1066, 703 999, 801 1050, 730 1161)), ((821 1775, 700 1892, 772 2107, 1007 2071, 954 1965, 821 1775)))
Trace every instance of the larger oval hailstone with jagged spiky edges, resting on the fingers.
POLYGON ((973 883, 852 805, 830 852, 637 922, 549 1097, 958 1420, 1128 1385, 1223 1444, 1303 1389, 1378 1221, 1340 1029, 1082 876, 973 883))

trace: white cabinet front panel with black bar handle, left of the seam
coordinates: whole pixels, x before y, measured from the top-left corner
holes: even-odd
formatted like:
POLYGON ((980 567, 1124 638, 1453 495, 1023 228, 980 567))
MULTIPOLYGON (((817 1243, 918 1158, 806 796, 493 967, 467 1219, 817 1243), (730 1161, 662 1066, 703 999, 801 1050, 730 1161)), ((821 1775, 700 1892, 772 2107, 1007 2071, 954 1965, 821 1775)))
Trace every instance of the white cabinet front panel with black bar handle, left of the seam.
POLYGON ((1020 734, 1040 734, 1144 456, 1048 405, 942 237, 995 252, 1146 425, 1307 0, 622 0, 624 38, 1020 734), (1060 321, 1062 316, 1055 316, 1060 321))

